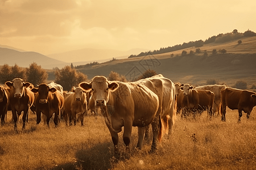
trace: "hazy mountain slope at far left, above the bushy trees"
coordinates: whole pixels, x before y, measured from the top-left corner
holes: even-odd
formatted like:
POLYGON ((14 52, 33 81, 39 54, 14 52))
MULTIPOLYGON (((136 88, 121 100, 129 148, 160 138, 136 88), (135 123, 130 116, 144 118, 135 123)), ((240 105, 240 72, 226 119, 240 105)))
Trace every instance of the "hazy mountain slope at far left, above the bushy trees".
POLYGON ((0 65, 14 66, 16 63, 20 67, 29 67, 31 63, 35 62, 43 69, 52 69, 53 67, 61 69, 65 65, 69 65, 69 63, 49 58, 40 53, 19 52, 9 48, 0 48, 0 56, 0 65))

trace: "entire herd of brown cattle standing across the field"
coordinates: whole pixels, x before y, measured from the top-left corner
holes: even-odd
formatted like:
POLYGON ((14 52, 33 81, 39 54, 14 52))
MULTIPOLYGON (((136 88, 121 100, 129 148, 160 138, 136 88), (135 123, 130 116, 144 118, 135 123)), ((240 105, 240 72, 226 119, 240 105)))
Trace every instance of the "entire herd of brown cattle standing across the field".
POLYGON ((242 111, 247 118, 256 105, 256 93, 247 90, 226 87, 225 85, 208 85, 193 88, 189 84, 173 83, 163 75, 155 75, 137 82, 109 81, 105 76, 94 76, 90 83, 81 82, 71 92, 63 92, 60 84, 42 83, 34 87, 20 78, 7 81, 0 86, 0 117, 2 126, 7 111, 13 113, 14 130, 17 120, 23 112, 23 126, 26 128, 28 110, 36 113, 36 124, 43 120, 49 126, 54 115, 54 124, 58 126, 63 115, 66 125, 76 125, 77 115, 83 125, 84 114, 90 109, 96 114, 101 111, 106 126, 112 135, 114 153, 118 151, 118 133, 123 131, 123 141, 127 152, 130 151, 131 130, 138 127, 138 148, 142 148, 143 138, 148 126, 152 126, 153 140, 151 152, 156 150, 163 131, 168 127, 168 137, 177 113, 181 118, 196 118, 203 111, 208 112, 209 120, 213 114, 221 115, 226 121, 226 107, 238 109, 238 122, 242 111))

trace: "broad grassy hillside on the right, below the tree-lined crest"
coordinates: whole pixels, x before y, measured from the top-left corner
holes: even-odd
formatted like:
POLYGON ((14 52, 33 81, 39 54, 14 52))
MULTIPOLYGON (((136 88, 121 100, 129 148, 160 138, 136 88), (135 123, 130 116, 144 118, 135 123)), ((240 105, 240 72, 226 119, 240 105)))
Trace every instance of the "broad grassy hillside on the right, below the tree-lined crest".
POLYGON ((147 69, 163 74, 173 82, 203 85, 208 79, 216 79, 220 83, 234 86, 237 80, 244 80, 248 87, 256 84, 256 37, 243 38, 242 44, 230 41, 223 44, 210 43, 200 47, 201 53, 189 54, 196 48, 183 49, 187 55, 181 56, 183 50, 158 55, 136 58, 116 59, 79 69, 93 78, 95 75, 109 75, 115 71, 132 80, 147 69), (225 54, 212 55, 212 50, 226 49, 225 54), (208 56, 203 56, 204 52, 208 56), (171 57, 172 56, 172 57, 171 57))

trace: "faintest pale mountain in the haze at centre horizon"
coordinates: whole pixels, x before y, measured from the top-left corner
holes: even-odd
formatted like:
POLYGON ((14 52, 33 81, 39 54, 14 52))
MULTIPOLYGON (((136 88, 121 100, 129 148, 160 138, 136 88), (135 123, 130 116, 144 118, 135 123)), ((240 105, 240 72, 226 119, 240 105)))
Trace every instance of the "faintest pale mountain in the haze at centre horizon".
POLYGON ((137 54, 147 49, 131 49, 128 51, 112 50, 112 49, 92 49, 85 48, 79 50, 72 50, 64 53, 48 54, 48 57, 58 59, 60 61, 69 63, 85 63, 92 61, 108 61, 114 58, 127 58, 131 54, 137 54))

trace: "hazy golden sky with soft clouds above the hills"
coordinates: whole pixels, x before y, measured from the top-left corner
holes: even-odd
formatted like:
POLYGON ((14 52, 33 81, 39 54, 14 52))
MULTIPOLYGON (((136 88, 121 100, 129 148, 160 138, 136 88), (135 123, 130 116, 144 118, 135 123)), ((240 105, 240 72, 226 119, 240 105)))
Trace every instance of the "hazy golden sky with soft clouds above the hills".
POLYGON ((0 44, 42 54, 149 50, 256 32, 256 1, 0 0, 0 44))

